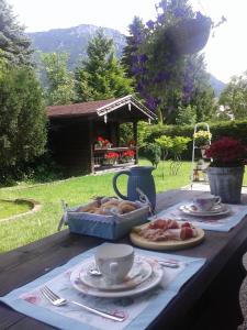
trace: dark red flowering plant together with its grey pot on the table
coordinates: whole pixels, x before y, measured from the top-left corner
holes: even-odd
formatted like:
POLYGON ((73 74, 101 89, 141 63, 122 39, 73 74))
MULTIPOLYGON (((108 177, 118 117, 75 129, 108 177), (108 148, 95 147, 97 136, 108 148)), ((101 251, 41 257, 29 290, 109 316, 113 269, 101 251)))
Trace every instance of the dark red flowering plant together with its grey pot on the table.
POLYGON ((207 167, 211 194, 221 196, 223 202, 240 202, 246 145, 225 136, 213 142, 205 154, 212 158, 207 167))

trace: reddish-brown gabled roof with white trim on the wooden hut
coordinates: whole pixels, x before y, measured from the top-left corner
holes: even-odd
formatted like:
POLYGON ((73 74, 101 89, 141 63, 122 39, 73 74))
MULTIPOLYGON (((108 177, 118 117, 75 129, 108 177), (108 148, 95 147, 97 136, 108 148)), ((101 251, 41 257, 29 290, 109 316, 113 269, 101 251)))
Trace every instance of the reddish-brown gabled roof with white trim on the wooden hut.
POLYGON ((150 120, 157 119, 157 116, 151 110, 143 106, 132 95, 128 95, 123 98, 117 98, 117 99, 112 98, 108 100, 89 101, 89 102, 74 103, 74 105, 66 105, 66 106, 50 106, 47 107, 47 116, 49 119, 87 117, 87 116, 102 117, 120 108, 123 108, 124 106, 127 106, 128 110, 131 110, 131 107, 133 106, 150 120))

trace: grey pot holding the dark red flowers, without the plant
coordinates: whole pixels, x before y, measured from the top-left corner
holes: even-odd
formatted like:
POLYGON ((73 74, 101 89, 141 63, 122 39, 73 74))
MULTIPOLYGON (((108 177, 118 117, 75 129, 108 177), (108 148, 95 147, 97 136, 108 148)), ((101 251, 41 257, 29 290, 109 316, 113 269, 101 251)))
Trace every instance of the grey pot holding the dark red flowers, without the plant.
POLYGON ((239 204, 245 166, 207 167, 210 190, 220 196, 223 202, 239 204))

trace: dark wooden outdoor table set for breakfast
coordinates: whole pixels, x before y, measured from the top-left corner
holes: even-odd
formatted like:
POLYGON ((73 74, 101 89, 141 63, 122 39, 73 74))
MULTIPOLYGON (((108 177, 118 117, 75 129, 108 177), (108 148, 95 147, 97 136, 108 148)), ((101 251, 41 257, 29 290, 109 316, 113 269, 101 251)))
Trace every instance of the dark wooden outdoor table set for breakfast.
MULTIPOLYGON (((157 197, 161 210, 202 191, 169 190, 157 197)), ((247 196, 244 196, 247 204, 247 196)), ((69 234, 67 230, 0 255, 0 296, 103 240, 69 234)), ((128 238, 123 241, 128 242, 128 238)), ((206 264, 181 288, 180 293, 149 324, 148 329, 236 330, 243 322, 238 302, 240 284, 246 276, 242 256, 247 251, 247 217, 228 233, 206 231, 203 243, 173 252, 206 257, 206 264)), ((0 329, 53 329, 0 304, 0 329)))

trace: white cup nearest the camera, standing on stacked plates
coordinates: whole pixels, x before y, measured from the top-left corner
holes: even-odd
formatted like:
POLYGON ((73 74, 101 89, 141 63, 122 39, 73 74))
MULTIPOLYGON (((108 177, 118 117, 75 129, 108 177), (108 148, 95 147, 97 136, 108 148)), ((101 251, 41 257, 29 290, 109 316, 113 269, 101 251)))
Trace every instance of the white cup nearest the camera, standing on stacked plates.
POLYGON ((123 282, 134 263, 134 249, 127 244, 108 243, 97 248, 96 263, 105 280, 123 282))

